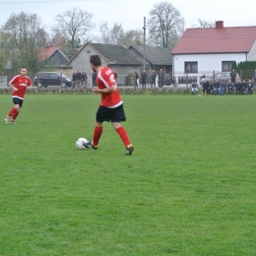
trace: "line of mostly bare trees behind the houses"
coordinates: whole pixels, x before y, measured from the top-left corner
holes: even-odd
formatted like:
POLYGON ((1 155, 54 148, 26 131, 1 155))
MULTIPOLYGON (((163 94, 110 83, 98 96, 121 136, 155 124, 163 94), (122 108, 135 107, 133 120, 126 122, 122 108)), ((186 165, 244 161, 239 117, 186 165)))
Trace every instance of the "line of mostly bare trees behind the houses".
MULTIPOLYGON (((21 66, 30 73, 40 69, 39 52, 47 45, 63 49, 78 49, 87 41, 110 43, 124 46, 143 45, 144 31, 124 31, 121 24, 108 28, 107 22, 99 25, 99 35, 94 14, 80 7, 55 17, 56 26, 51 32, 43 29, 36 14, 21 12, 12 14, 0 29, 0 75, 14 74, 21 66)), ((155 4, 147 20, 146 45, 173 48, 184 32, 184 19, 169 2, 155 4)), ((199 20, 199 27, 211 27, 211 23, 199 20)))

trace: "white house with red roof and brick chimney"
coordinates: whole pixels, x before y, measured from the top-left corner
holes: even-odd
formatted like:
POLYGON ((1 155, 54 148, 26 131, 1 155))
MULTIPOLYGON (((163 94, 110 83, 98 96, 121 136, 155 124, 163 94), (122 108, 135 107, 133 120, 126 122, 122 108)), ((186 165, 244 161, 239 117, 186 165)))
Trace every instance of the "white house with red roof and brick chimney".
POLYGON ((233 61, 256 60, 256 26, 187 29, 171 54, 175 76, 230 71, 233 61))

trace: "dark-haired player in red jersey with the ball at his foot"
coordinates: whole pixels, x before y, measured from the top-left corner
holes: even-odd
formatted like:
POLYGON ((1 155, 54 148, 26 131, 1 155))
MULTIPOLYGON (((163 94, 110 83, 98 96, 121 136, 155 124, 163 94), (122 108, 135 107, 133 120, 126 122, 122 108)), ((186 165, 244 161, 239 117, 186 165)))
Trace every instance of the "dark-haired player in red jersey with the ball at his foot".
POLYGON ((97 150, 98 141, 103 131, 103 121, 111 121, 114 130, 119 134, 125 146, 125 155, 130 156, 134 151, 128 134, 120 121, 126 121, 123 109, 123 101, 118 93, 116 86, 116 78, 113 71, 108 67, 103 67, 101 59, 98 55, 92 55, 90 63, 96 75, 96 87, 93 92, 101 95, 100 105, 96 111, 96 123, 93 140, 90 143, 84 143, 86 148, 97 150))

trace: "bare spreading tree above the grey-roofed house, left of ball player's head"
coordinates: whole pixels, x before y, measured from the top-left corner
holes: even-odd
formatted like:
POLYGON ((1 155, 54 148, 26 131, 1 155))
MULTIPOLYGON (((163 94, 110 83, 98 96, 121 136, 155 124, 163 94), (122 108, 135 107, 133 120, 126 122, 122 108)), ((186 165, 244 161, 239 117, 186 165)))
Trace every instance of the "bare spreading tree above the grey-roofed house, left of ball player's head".
POLYGON ((86 41, 88 32, 94 29, 93 17, 93 14, 79 7, 71 7, 71 10, 56 16, 58 26, 53 28, 53 32, 62 34, 70 47, 76 48, 86 41))

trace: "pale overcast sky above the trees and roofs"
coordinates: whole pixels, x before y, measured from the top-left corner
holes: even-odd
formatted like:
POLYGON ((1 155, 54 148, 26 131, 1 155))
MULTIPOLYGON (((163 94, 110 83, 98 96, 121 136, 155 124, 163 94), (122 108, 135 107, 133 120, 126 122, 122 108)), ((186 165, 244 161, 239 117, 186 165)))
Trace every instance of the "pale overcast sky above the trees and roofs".
MULTIPOLYGON (((0 0, 0 27, 10 15, 22 11, 41 19, 46 31, 56 24, 54 17, 70 7, 80 7, 94 14, 94 23, 107 22, 111 29, 114 23, 122 24, 125 31, 143 28, 144 17, 159 0, 0 0)), ((224 21, 224 27, 256 26, 255 0, 171 0, 185 20, 185 29, 198 24, 198 19, 214 23, 224 21)), ((98 32, 98 28, 94 31, 98 32)), ((147 32, 147 31, 146 31, 147 32)))

